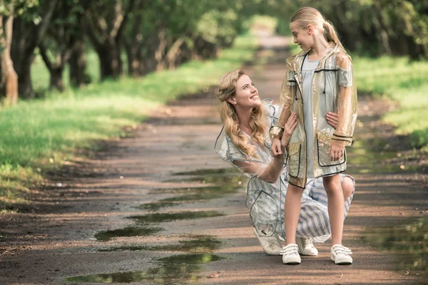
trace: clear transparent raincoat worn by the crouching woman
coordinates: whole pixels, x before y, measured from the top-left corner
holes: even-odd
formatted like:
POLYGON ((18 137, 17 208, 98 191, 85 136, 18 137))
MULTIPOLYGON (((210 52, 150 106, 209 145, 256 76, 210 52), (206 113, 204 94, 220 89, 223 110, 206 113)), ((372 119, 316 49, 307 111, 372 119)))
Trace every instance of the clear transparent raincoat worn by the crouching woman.
MULTIPOLYGON (((225 134, 224 128, 222 128, 215 142, 215 151, 223 160, 230 162, 231 165, 249 177, 245 203, 250 212, 254 233, 265 252, 279 254, 285 241, 284 202, 288 187, 286 160, 277 181, 270 183, 263 178, 265 170, 273 160, 270 155, 269 128, 277 124, 281 108, 278 105, 272 105, 272 100, 264 100, 263 108, 266 109, 268 128, 265 135, 265 145, 256 145, 257 157, 248 157, 244 152, 238 150, 228 135, 225 134), (249 173, 248 169, 252 171, 249 173)), ((251 143, 249 135, 248 139, 251 143)), ((287 154, 285 153, 286 157, 287 154)), ((343 177, 345 175, 341 175, 341 180, 343 177)), ((353 195, 354 192, 345 201, 345 217, 353 195)), ((325 242, 330 237, 327 193, 322 179, 312 180, 303 192, 300 218, 297 224, 297 237, 312 237, 313 242, 325 242)))

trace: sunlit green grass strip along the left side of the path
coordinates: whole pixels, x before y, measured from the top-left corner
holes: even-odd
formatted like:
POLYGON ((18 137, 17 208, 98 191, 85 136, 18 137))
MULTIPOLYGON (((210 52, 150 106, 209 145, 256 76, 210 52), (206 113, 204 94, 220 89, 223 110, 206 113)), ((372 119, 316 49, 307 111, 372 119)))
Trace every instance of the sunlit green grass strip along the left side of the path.
MULTIPOLYGON (((250 61, 255 48, 254 38, 240 36, 215 60, 190 61, 173 71, 103 83, 96 82, 98 58, 89 54, 89 72, 96 83, 1 108, 0 210, 25 202, 22 198, 31 186, 39 184, 51 167, 72 160, 76 150, 121 136, 123 127, 140 123, 158 105, 214 85, 223 73, 250 61)), ((46 90, 49 73, 41 61, 34 64, 32 75, 34 87, 46 90)))

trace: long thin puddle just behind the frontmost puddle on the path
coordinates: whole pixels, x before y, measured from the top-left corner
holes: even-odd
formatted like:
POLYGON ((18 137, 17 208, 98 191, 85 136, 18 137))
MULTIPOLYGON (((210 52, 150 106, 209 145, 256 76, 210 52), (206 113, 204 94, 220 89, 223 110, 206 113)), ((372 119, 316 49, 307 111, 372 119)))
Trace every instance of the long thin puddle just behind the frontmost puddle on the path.
POLYGON ((108 249, 98 249, 98 252, 122 252, 122 251, 163 251, 163 252, 188 252, 188 253, 207 253, 219 249, 221 241, 212 236, 196 236, 193 239, 181 240, 178 244, 166 244, 161 246, 149 247, 146 245, 130 245, 124 247, 111 247, 108 249))

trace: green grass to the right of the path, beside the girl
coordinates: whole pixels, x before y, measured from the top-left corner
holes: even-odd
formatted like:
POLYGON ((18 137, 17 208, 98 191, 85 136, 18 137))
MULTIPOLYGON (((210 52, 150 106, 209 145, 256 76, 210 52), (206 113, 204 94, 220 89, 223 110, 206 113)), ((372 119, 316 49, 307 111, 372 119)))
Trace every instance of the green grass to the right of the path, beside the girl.
POLYGON ((383 120, 397 126, 396 133, 409 135, 413 147, 428 150, 428 62, 407 58, 367 58, 353 56, 359 92, 384 95, 399 108, 383 120))

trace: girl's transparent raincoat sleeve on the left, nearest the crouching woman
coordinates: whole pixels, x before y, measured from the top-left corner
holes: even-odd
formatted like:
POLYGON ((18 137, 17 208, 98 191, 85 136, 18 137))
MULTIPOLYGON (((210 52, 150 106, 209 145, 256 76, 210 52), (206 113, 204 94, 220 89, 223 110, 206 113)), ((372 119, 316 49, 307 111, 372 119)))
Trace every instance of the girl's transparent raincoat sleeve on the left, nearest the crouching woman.
MULTIPOLYGON (((285 77, 282 81, 281 91, 280 91, 280 103, 282 105, 282 112, 277 120, 276 127, 280 128, 287 123, 288 118, 290 118, 292 111, 292 100, 293 96, 296 93, 296 81, 294 78, 294 71, 287 65, 287 70, 285 71, 285 77)), ((277 136, 277 133, 271 132, 272 137, 277 136)))

